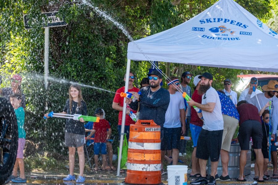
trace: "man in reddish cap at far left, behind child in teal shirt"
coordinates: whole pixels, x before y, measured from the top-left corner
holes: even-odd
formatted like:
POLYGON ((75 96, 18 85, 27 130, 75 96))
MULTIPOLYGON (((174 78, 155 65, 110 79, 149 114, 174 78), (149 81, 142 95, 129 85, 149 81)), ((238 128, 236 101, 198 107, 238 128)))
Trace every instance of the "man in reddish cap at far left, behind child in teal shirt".
POLYGON ((11 80, 11 87, 6 87, 6 88, 0 89, 0 95, 7 98, 10 101, 10 96, 12 94, 15 94, 15 93, 21 94, 21 103, 20 104, 23 107, 23 109, 25 109, 26 108, 25 95, 21 91, 22 77, 19 74, 15 74, 15 75, 13 75, 13 77, 11 77, 10 80, 11 80))

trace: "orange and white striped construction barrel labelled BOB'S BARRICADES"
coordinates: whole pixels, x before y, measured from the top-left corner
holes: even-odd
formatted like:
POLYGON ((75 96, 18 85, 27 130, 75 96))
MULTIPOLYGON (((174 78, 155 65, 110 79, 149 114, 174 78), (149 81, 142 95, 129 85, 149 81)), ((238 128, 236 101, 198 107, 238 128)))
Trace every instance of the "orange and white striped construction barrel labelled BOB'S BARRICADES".
POLYGON ((161 183, 160 126, 153 120, 130 125, 126 167, 125 183, 161 183))

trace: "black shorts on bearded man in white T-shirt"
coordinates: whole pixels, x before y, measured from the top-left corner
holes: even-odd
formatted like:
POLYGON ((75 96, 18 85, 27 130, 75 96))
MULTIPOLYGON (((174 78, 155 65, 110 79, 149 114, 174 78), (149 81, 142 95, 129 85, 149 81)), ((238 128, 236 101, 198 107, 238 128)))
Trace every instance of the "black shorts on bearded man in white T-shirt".
POLYGON ((210 157, 211 162, 218 161, 222 135, 223 130, 208 131, 202 129, 197 142, 196 158, 208 160, 210 157))

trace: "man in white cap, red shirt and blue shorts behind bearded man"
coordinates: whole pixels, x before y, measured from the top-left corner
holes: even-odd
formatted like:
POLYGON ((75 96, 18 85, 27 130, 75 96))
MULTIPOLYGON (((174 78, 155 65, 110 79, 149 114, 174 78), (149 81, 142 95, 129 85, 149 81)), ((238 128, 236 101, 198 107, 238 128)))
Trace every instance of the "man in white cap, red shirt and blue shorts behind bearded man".
MULTIPOLYGON (((200 75, 197 75, 193 79, 193 84, 196 86, 195 91, 192 94, 192 100, 202 103, 202 94, 199 94, 198 91, 201 84, 201 79, 198 78, 200 75)), ((191 119, 190 119, 190 131, 191 131, 191 137, 193 141, 193 152, 191 156, 192 161, 192 171, 190 173, 190 177, 199 177, 201 174, 200 165, 199 165, 199 159, 196 158, 196 149, 197 149, 197 141, 200 134, 200 131, 203 126, 203 121, 198 117, 196 110, 191 107, 191 119)))

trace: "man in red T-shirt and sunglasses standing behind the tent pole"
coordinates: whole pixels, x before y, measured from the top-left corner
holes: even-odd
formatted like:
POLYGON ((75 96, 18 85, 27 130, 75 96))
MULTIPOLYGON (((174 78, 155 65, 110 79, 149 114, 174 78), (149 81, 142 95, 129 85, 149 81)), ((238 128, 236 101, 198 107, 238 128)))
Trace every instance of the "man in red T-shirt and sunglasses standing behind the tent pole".
MULTIPOLYGON (((124 81, 125 81, 124 76, 124 81)), ((133 86, 134 82, 134 75, 132 72, 129 73, 129 79, 128 79, 128 92, 139 92, 139 89, 133 86)), ((120 97, 120 93, 124 92, 124 87, 119 88, 116 91, 112 108, 115 110, 120 111, 119 112, 119 121, 118 121, 118 132, 119 132, 119 138, 121 134, 121 125, 122 125, 122 117, 123 117, 123 106, 124 106, 124 97, 120 97)), ((126 138, 129 138, 129 125, 134 124, 135 122, 129 117, 129 113, 132 111, 133 113, 137 113, 137 110, 133 110, 129 107, 128 104, 126 104, 126 115, 125 115, 125 126, 124 126, 124 133, 126 133, 126 138)))

